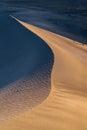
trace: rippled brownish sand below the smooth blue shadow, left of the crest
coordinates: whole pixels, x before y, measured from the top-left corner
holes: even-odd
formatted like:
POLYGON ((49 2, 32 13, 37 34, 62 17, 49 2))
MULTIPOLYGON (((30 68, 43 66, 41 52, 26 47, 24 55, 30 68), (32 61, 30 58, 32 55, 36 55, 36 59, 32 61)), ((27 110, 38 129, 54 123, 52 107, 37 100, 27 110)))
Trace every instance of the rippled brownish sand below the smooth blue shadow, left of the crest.
POLYGON ((0 121, 9 119, 44 101, 51 89, 52 61, 39 72, 11 83, 0 91, 0 121))

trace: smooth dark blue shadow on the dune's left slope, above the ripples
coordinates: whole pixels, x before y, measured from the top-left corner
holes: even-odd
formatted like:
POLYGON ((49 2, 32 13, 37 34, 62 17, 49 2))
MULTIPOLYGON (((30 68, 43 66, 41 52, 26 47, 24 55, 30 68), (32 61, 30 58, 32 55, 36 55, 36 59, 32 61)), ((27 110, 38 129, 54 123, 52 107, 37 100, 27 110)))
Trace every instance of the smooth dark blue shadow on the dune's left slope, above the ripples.
POLYGON ((51 60, 53 53, 43 40, 0 12, 0 88, 39 71, 51 60))

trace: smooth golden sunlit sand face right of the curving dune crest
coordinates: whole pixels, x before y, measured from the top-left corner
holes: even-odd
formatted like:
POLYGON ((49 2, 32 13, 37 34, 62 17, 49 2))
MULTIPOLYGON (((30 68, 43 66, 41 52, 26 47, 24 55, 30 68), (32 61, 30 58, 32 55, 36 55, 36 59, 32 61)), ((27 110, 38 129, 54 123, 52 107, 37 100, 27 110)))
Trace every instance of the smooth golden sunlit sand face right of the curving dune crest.
POLYGON ((0 130, 87 130, 87 46, 19 21, 54 53, 51 93, 41 105, 0 123, 0 130))

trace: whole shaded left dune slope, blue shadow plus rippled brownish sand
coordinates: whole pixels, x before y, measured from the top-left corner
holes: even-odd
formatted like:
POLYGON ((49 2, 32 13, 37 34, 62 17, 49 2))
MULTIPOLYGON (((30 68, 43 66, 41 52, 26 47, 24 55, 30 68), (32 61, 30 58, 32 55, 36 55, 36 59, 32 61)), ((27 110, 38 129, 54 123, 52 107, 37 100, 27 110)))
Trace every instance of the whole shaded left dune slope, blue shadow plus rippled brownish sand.
POLYGON ((2 121, 40 104, 48 97, 51 90, 53 53, 43 40, 7 14, 2 16, 0 24, 7 27, 0 34, 2 121))

